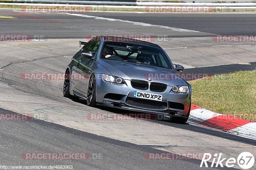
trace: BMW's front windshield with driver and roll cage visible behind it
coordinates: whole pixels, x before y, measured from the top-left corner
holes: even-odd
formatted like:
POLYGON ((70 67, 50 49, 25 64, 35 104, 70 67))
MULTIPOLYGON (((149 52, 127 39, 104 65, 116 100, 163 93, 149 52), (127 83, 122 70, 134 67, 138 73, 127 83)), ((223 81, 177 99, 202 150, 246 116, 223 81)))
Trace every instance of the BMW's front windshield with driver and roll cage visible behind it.
POLYGON ((128 42, 106 41, 102 49, 102 59, 172 68, 168 56, 159 48, 128 42))

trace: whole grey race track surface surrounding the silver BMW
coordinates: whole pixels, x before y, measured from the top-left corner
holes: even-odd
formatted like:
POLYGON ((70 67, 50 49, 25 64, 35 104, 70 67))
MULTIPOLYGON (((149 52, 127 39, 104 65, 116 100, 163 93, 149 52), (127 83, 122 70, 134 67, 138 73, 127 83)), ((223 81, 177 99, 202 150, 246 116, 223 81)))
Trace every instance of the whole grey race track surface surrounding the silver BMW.
MULTIPOLYGON (((100 34, 164 36, 165 41, 154 39, 152 42, 164 48, 173 63, 182 64, 185 73, 213 75, 253 70, 256 69, 255 41, 219 42, 212 37, 254 35, 255 14, 25 13, 1 9, 0 16, 6 17, 0 18, 1 35, 42 37, 40 41, 0 41, 0 113, 32 117, 26 121, 0 121, 0 165, 62 164, 78 170, 200 169, 198 159, 150 160, 146 155, 168 152, 223 153, 226 158, 237 158, 241 152, 256 155, 254 139, 189 122, 91 120, 89 115, 93 114, 106 113, 114 117, 132 112, 92 108, 82 99, 67 99, 62 94, 62 79, 25 80, 21 76, 23 73, 64 73, 70 58, 80 49, 79 40, 88 41, 100 34), (97 154, 102 157, 88 160, 22 158, 24 153, 84 152, 90 158, 97 154)), ((237 164, 232 168, 241 169, 237 164)))

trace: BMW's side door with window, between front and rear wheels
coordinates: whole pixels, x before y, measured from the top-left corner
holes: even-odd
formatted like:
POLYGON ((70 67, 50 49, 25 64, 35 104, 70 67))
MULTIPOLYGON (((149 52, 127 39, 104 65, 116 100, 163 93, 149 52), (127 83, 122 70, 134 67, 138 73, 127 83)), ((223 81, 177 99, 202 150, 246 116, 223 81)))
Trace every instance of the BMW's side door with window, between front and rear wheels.
MULTIPOLYGON (((81 50, 82 52, 91 51, 94 52, 93 54, 96 55, 99 46, 100 46, 100 39, 92 39, 86 44, 86 46, 81 50)), ((89 78, 89 71, 94 59, 83 57, 80 53, 78 57, 78 63, 76 65, 76 81, 75 87, 81 92, 87 93, 87 80, 89 78)))

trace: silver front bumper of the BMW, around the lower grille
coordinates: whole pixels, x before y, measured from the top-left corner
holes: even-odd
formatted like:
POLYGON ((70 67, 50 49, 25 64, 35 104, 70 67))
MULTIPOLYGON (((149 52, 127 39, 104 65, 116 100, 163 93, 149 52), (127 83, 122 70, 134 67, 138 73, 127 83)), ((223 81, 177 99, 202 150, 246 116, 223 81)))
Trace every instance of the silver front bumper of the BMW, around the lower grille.
MULTIPOLYGON (((188 109, 191 102, 191 87, 189 87, 188 92, 186 93, 178 93, 173 92, 172 86, 167 86, 167 89, 164 92, 152 92, 148 90, 138 90, 134 89, 131 85, 130 80, 125 80, 126 84, 116 84, 106 82, 101 78, 101 74, 97 75, 97 89, 96 89, 96 101, 98 105, 114 107, 125 110, 132 110, 137 112, 145 112, 145 113, 153 113, 160 114, 166 116, 178 116, 178 117, 186 117, 188 114, 188 109), (136 105, 127 104, 127 99, 133 97, 134 91, 140 92, 148 92, 154 94, 163 95, 163 102, 166 103, 166 107, 164 108, 147 108, 136 105), (110 97, 106 97, 106 94, 119 94, 120 99, 110 99, 110 97), (172 104, 171 104, 172 103, 172 104), (173 105, 173 103, 182 104, 184 107, 177 108, 173 105)), ((148 82, 151 83, 151 82, 148 82)), ((137 98, 136 98, 137 99, 137 98)), ((145 99, 147 100, 147 99, 145 99)), ((151 102, 152 100, 148 100, 151 102)))

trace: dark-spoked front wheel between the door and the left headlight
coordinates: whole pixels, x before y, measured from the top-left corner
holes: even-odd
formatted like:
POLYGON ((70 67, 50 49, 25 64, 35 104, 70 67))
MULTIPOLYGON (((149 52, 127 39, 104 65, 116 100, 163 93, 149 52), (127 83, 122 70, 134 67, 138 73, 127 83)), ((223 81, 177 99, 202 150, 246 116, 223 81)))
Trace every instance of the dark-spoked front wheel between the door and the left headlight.
POLYGON ((96 78, 94 74, 90 78, 87 90, 87 106, 96 106, 96 78))

